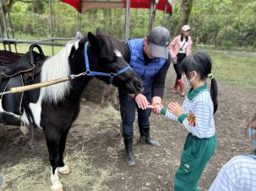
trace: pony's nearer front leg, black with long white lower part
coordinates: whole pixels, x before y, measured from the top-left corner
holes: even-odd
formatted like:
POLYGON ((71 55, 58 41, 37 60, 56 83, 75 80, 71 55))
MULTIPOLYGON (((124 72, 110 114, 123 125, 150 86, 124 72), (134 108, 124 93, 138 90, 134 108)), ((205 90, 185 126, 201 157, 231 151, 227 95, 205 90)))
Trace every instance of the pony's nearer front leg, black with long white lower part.
POLYGON ((46 135, 46 144, 49 151, 50 163, 52 166, 51 172, 51 183, 53 191, 63 191, 63 184, 58 178, 58 162, 59 162, 59 143, 61 134, 55 130, 54 126, 52 128, 44 129, 46 135))

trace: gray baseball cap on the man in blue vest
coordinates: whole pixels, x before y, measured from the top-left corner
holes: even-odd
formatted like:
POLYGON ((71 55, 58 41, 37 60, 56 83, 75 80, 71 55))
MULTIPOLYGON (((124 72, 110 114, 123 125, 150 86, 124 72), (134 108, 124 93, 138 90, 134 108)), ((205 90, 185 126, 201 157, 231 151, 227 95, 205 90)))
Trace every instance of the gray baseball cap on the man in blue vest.
POLYGON ((150 51, 154 57, 168 58, 168 45, 170 43, 170 33, 164 27, 154 27, 147 36, 150 51))

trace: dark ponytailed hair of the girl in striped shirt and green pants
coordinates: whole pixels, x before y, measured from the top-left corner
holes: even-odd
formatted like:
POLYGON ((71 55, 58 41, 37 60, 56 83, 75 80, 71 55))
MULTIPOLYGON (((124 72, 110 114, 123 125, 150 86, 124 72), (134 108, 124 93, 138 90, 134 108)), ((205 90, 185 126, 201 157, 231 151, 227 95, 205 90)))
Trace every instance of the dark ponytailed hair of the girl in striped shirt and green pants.
MULTIPOLYGON (((206 80, 211 74, 212 62, 210 56, 204 52, 197 52, 192 55, 186 56, 181 64, 181 71, 188 77, 189 72, 197 72, 201 80, 206 80)), ((210 77, 210 97, 214 104, 214 114, 218 109, 218 87, 215 77, 210 77)))

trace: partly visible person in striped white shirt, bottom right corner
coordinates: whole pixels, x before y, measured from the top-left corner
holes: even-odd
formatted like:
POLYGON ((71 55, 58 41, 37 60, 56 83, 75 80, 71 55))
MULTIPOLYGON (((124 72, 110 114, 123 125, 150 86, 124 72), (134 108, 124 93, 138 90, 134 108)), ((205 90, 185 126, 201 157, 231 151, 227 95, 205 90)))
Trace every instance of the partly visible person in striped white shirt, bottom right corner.
MULTIPOLYGON (((247 128, 247 135, 256 146, 256 114, 247 128)), ((253 155, 232 157, 221 167, 210 191, 253 191, 256 190, 256 150, 253 155)))

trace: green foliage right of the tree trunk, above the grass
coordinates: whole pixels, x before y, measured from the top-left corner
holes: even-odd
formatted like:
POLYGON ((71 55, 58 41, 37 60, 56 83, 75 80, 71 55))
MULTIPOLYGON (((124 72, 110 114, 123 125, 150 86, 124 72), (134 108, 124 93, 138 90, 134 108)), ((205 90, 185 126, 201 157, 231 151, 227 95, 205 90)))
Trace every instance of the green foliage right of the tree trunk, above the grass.
POLYGON ((204 44, 256 46, 254 0, 197 0, 190 17, 193 39, 204 44))

